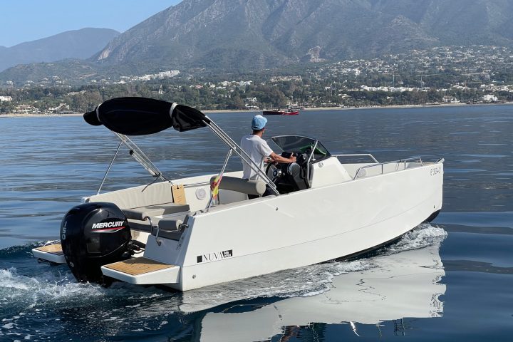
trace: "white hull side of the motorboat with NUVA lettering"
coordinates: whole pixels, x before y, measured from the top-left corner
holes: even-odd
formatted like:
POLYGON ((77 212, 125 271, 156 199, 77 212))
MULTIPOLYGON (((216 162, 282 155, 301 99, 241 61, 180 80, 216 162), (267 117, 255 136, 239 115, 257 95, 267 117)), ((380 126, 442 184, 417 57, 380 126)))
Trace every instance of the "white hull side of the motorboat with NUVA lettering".
POLYGON ((180 242, 150 237, 145 257, 180 265, 167 286, 185 291, 357 254, 440 210, 442 175, 439 163, 214 207, 180 242))

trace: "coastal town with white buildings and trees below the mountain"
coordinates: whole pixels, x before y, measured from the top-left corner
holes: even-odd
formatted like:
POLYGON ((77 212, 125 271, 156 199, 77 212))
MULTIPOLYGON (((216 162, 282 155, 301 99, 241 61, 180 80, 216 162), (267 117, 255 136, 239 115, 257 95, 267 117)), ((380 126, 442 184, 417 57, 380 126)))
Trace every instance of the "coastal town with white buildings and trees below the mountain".
POLYGON ((374 59, 318 61, 259 73, 169 70, 76 80, 0 83, 0 115, 83 113, 108 98, 145 96, 201 110, 365 108, 513 100, 513 51, 445 46, 374 59))

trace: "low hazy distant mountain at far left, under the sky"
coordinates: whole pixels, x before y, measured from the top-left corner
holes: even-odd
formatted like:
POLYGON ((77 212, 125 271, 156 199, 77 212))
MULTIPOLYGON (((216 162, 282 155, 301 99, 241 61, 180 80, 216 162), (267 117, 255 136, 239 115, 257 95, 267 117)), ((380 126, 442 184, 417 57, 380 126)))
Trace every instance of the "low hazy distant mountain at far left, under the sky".
POLYGON ((109 28, 82 28, 10 48, 0 46, 0 71, 18 64, 53 62, 64 58, 86 59, 119 34, 109 28))

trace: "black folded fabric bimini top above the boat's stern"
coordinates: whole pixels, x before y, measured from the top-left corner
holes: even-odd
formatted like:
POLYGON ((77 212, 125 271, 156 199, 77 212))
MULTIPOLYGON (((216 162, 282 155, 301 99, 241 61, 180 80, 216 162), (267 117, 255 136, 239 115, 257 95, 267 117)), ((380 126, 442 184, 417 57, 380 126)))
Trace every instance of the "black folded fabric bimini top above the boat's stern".
POLYGON ((170 127, 184 132, 210 123, 195 108, 153 98, 113 98, 83 116, 90 125, 104 125, 124 135, 147 135, 170 127))

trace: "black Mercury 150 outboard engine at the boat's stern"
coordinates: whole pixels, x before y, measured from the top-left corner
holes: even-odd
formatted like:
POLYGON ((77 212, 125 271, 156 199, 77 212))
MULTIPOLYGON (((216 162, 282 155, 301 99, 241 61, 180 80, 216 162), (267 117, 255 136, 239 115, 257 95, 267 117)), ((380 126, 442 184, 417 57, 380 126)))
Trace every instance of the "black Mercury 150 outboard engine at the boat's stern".
POLYGON ((62 220, 61 246, 78 281, 105 284, 100 266, 130 257, 130 227, 113 203, 80 204, 62 220))

